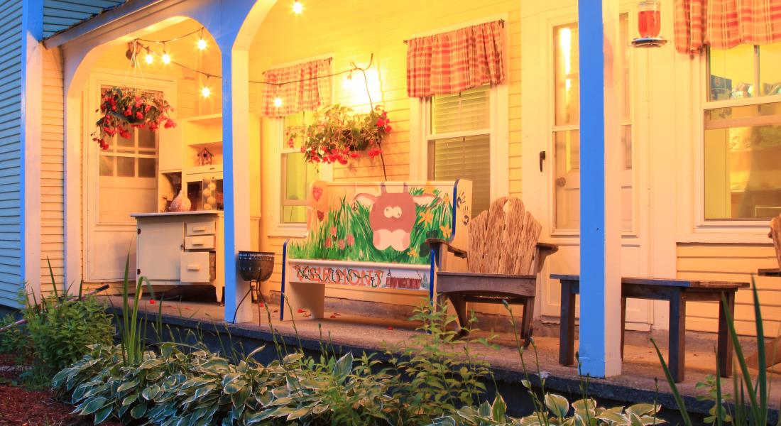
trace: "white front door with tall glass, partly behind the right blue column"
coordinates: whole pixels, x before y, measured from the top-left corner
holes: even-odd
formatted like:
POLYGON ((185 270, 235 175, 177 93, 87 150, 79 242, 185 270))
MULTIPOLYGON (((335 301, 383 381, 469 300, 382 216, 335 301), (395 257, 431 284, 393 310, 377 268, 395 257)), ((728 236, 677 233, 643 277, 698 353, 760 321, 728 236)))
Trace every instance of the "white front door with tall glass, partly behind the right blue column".
MULTIPOLYGON (((558 317, 560 285, 548 274, 580 273, 580 58, 577 6, 574 1, 523 2, 522 13, 522 173, 523 199, 543 224, 543 241, 559 245, 538 290, 538 312, 558 317)), ((644 138, 634 118, 634 52, 628 47, 633 22, 623 5, 619 42, 622 70, 622 211, 621 270, 624 276, 647 276, 647 212, 644 188, 644 138)), ((631 300, 628 328, 649 330, 651 302, 631 300)), ((579 311, 579 310, 578 310, 579 311)))

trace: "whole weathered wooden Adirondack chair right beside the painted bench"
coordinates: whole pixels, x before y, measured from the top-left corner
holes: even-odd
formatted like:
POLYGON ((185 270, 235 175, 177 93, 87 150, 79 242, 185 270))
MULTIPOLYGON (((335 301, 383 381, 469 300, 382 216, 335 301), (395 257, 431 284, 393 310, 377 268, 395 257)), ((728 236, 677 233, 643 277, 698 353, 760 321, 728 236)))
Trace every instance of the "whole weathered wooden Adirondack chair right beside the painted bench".
POLYGON ((468 320, 466 302, 507 301, 523 306, 521 337, 530 342, 537 273, 558 250, 537 242, 541 229, 521 200, 502 197, 469 222, 467 249, 441 239, 427 241, 437 253, 437 295, 453 304, 462 331, 468 320), (448 270, 448 256, 465 259, 468 271, 448 270))

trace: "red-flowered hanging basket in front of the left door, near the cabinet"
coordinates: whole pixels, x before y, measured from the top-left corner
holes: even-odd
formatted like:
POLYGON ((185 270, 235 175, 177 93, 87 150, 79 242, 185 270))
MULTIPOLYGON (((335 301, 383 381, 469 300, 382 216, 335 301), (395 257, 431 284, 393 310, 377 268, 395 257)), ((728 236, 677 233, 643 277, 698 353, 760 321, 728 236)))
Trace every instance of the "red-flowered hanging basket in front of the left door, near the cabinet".
POLYGON ((102 116, 95 123, 98 128, 92 133, 92 140, 102 149, 109 149, 106 138, 119 134, 130 138, 130 128, 148 128, 156 131, 161 126, 169 129, 177 124, 169 117, 173 108, 162 95, 131 88, 110 88, 105 91, 100 109, 102 116))

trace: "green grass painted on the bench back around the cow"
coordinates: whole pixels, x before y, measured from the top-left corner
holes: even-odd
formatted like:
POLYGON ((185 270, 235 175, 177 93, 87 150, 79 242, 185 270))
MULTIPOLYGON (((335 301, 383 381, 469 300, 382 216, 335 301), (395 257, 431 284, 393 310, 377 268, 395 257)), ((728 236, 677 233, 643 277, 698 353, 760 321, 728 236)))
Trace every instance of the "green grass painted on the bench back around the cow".
MULTIPOLYGON (((409 193, 421 195, 423 188, 411 188, 409 193)), ((426 265, 430 260, 426 238, 446 238, 443 228, 450 229, 453 220, 452 200, 443 202, 446 193, 439 189, 434 189, 433 193, 437 195, 433 202, 426 206, 415 206, 415 227, 412 227, 409 236, 409 248, 404 252, 398 252, 392 247, 376 249, 372 242, 373 231, 369 226, 369 208, 343 197, 337 209, 326 212, 319 227, 310 229, 306 240, 288 245, 289 256, 291 259, 426 265), (421 213, 426 211, 432 213, 433 220, 420 223, 421 213), (330 246, 326 243, 329 239, 330 246)))

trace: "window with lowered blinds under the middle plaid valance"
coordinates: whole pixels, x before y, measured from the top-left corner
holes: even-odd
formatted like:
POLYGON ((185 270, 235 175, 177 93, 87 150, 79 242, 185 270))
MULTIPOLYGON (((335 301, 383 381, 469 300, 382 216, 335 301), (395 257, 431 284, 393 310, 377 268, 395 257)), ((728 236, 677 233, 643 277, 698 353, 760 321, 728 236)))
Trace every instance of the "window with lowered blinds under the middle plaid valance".
POLYGON ((428 179, 473 183, 472 211, 487 210, 491 188, 491 88, 434 95, 428 108, 428 179))

